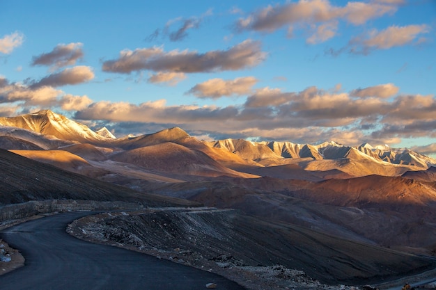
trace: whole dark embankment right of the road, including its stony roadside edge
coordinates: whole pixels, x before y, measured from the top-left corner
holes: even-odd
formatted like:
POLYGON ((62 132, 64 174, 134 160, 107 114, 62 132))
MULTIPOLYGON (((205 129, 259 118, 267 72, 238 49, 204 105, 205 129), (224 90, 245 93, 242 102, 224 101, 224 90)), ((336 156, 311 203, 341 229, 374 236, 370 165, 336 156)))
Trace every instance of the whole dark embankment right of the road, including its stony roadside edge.
POLYGON ((76 221, 69 232, 215 271, 256 290, 338 289, 327 284, 378 283, 434 266, 426 258, 233 210, 101 214, 76 221))

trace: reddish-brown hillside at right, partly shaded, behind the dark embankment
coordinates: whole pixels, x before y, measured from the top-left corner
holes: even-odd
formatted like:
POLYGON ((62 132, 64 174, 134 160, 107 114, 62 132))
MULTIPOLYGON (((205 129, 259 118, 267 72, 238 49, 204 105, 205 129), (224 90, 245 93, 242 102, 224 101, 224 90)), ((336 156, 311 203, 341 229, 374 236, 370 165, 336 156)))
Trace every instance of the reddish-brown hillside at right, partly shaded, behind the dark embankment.
POLYGON ((148 186, 162 195, 240 209, 343 239, 425 255, 436 252, 435 184, 372 176, 316 183, 223 178, 148 186))

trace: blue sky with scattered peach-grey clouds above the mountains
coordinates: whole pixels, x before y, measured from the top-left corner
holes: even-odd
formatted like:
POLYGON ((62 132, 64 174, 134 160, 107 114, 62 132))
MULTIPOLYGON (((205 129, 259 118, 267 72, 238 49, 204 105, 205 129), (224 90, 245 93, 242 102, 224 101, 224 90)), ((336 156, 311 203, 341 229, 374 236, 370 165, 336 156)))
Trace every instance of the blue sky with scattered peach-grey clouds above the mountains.
POLYGON ((0 0, 0 115, 436 152, 436 1, 0 0))

